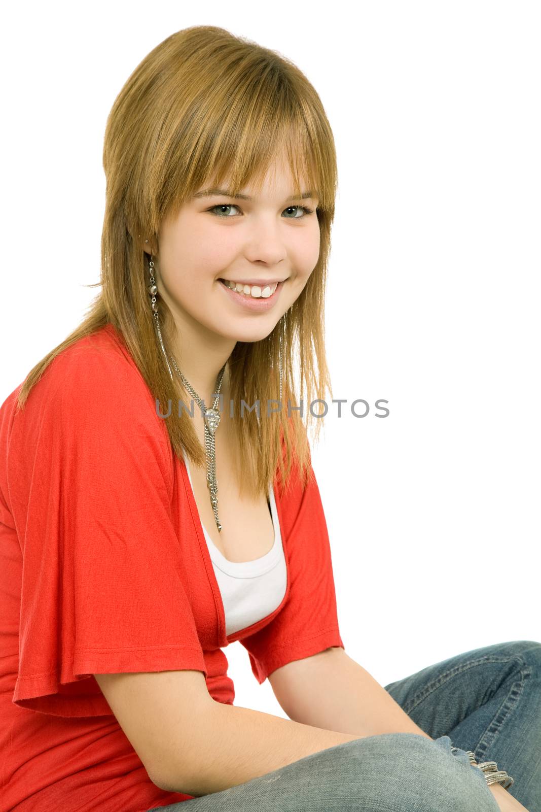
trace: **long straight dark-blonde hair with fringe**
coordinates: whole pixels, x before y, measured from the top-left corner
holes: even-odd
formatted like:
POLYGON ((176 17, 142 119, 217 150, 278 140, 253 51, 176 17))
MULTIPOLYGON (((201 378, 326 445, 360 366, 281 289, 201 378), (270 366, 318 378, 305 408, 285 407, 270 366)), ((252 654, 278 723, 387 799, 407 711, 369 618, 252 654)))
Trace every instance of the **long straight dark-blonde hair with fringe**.
MULTIPOLYGON (((101 235, 100 294, 84 321, 39 361, 19 392, 22 408, 45 368, 62 350, 111 322, 122 334, 135 364, 161 413, 171 445, 193 464, 204 467, 204 448, 179 397, 189 404, 182 382, 172 381, 157 340, 147 286, 144 239, 159 233, 165 216, 178 213, 201 186, 221 180, 239 191, 247 184, 260 190, 268 166, 283 156, 289 163, 294 194, 303 191, 299 177, 319 199, 320 256, 303 292, 265 339, 238 342, 228 360, 230 397, 237 439, 235 473, 241 489, 257 497, 268 491, 277 466, 287 483, 292 465, 303 482, 310 467, 310 447, 303 417, 288 416, 287 403, 304 414, 312 400, 325 400, 331 384, 324 351, 324 289, 330 231, 337 192, 333 133, 316 90, 287 58, 224 28, 184 28, 157 45, 135 68, 109 113, 103 166, 106 177, 105 218, 101 235), (270 417, 269 400, 278 399, 278 352, 283 352, 282 408, 270 417), (300 391, 294 381, 298 358, 300 391), (240 416, 237 404, 260 400, 261 420, 254 412, 240 416), (263 404, 265 408, 263 408, 263 404), (165 418, 164 418, 165 419, 165 418), (241 476, 242 472, 242 476, 241 476)), ((150 240, 149 240, 150 242, 150 240)), ((157 297, 165 349, 177 335, 169 308, 157 297)), ((169 355, 169 352, 168 352, 169 355)), ((332 393, 331 393, 332 395, 332 393)), ((229 404, 225 404, 229 408, 229 404)), ((320 418, 316 417, 319 435, 320 418)))

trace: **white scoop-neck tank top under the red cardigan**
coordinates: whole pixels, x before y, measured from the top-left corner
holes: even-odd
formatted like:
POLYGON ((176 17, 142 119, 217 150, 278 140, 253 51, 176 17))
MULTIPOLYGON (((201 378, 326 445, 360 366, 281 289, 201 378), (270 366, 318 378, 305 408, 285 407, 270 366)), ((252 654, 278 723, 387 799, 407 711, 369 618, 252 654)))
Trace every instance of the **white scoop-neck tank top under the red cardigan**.
MULTIPOLYGON (((193 492, 190 466, 186 454, 183 453, 183 456, 193 492)), ((270 615, 280 606, 286 594, 286 559, 281 543, 280 522, 272 487, 268 489, 268 503, 270 503, 271 516, 273 516, 274 543, 268 553, 253 561, 226 559, 208 535, 206 528, 203 527, 208 553, 213 562, 214 575, 224 605, 225 633, 228 636, 270 615)))

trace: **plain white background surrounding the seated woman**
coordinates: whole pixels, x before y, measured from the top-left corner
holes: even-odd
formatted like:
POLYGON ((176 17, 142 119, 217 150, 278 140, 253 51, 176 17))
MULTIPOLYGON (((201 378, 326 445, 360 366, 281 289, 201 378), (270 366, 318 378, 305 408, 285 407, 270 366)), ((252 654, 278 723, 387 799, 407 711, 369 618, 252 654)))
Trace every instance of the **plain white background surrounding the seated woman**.
MULTIPOLYGON (((9 14, 2 401, 97 293, 84 285, 100 276, 105 119, 131 71, 191 25, 257 41, 311 80, 337 145, 326 324, 333 396, 347 404, 312 459, 346 652, 386 685, 539 641, 539 3, 9 14), (367 417, 348 411, 358 398, 367 417)), ((225 654, 235 704, 284 716, 243 647, 225 654)))

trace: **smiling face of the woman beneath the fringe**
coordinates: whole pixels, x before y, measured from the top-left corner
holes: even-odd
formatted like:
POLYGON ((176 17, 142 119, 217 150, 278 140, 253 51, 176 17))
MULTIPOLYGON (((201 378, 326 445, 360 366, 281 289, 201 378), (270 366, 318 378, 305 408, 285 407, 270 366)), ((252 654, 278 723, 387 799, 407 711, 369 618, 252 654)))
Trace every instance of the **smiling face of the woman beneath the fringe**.
MULTIPOLYGON (((241 191, 250 200, 217 193, 194 197, 162 222, 158 293, 183 338, 214 344, 223 339, 224 346, 259 341, 298 298, 318 261, 320 228, 317 198, 292 198, 292 189, 289 171, 277 162, 257 197, 249 187, 241 191), (230 287, 238 283, 237 290, 222 279, 230 287), (238 292, 241 284, 250 292, 238 292)), ((310 191, 301 186, 301 192, 310 191)))

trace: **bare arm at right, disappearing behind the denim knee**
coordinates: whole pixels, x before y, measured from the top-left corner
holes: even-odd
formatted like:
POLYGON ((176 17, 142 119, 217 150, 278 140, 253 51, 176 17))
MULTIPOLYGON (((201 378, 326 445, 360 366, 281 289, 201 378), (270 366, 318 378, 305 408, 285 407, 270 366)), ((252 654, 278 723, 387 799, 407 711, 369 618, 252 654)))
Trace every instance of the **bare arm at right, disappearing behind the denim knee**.
MULTIPOLYGON (((268 681, 282 710, 297 722, 360 737, 418 733, 432 740, 341 648, 287 663, 270 674, 268 681)), ((501 784, 487 789, 500 812, 524 810, 501 784)))

